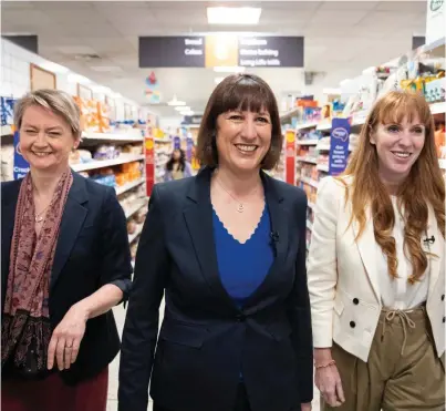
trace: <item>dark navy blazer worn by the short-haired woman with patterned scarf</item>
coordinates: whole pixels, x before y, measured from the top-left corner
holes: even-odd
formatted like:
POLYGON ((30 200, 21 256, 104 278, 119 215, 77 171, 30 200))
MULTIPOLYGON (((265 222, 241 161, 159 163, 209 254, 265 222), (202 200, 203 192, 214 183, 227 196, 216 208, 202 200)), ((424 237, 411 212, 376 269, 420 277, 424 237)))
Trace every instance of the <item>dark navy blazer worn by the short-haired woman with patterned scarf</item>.
MULTIPOLYGON (((114 189, 76 173, 73 176, 50 281, 50 320, 53 329, 71 306, 103 285, 115 284, 124 291, 124 296, 131 287, 132 265, 126 219, 114 189)), ((21 182, 1 184, 2 308, 21 182)), ((61 376, 68 383, 86 379, 103 370, 118 351, 120 337, 113 312, 108 311, 86 322, 77 360, 61 376)))

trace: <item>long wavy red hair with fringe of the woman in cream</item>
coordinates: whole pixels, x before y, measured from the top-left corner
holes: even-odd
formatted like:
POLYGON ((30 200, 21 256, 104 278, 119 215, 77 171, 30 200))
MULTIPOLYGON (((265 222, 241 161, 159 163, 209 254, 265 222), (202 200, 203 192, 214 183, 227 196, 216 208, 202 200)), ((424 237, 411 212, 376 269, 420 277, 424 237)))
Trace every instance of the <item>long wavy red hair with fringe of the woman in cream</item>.
POLYGON ((387 257, 388 274, 397 278, 398 260, 395 238, 392 236, 395 224, 394 208, 391 196, 378 177, 378 157, 375 145, 371 143, 371 134, 376 131, 377 125, 401 124, 404 117, 409 122, 418 119, 425 126, 422 152, 397 193, 398 207, 403 207, 405 213, 404 250, 413 266, 408 281, 415 284, 427 268, 422 235, 427 229, 429 205, 445 237, 445 181, 435 148, 434 119, 423 95, 408 91, 392 91, 380 99, 362 127, 360 144, 352 153, 351 162, 343 174, 353 176, 351 192, 342 176, 339 179, 345 185, 345 198, 352 201, 350 224, 355 219, 360 226, 356 239, 365 228, 365 209, 371 207, 375 239, 387 257))

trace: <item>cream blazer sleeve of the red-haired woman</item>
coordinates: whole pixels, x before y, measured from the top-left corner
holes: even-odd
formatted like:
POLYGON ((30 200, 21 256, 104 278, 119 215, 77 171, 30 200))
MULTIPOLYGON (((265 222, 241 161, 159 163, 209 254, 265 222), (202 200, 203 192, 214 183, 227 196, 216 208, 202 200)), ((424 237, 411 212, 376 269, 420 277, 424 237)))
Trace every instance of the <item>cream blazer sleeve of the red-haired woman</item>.
POLYGON ((336 219, 340 189, 332 177, 322 179, 318 189, 308 263, 314 348, 333 343, 333 309, 336 270, 336 219))

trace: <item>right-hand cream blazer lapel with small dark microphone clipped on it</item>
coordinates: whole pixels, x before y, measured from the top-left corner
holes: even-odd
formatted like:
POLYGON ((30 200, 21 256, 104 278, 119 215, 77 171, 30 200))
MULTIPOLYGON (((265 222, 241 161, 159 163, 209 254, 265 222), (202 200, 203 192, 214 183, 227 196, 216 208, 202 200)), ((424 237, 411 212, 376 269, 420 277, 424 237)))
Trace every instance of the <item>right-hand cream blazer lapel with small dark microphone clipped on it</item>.
POLYGON ((429 258, 429 290, 428 290, 428 296, 432 296, 433 291, 436 289, 437 281, 439 279, 439 274, 442 270, 442 265, 444 269, 444 259, 442 259, 442 256, 444 256, 445 253, 445 240, 442 236, 442 233, 438 229, 438 224, 437 219, 435 218, 435 213, 434 209, 429 206, 429 216, 428 216, 428 223, 427 223, 427 230, 426 230, 426 237, 422 237, 422 245, 423 249, 425 249, 428 253, 428 258, 429 258), (431 242, 426 242, 427 239, 431 239, 431 242))

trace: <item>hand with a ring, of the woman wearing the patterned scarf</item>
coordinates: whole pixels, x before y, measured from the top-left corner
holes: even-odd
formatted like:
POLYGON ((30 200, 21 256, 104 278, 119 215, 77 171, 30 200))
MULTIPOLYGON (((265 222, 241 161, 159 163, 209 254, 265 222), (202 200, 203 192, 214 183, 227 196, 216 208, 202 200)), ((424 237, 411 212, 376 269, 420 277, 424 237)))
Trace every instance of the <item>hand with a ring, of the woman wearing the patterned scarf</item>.
POLYGON ((74 305, 54 329, 48 349, 48 369, 56 362, 60 371, 68 370, 76 360, 82 338, 85 333, 87 311, 81 305, 74 305))

